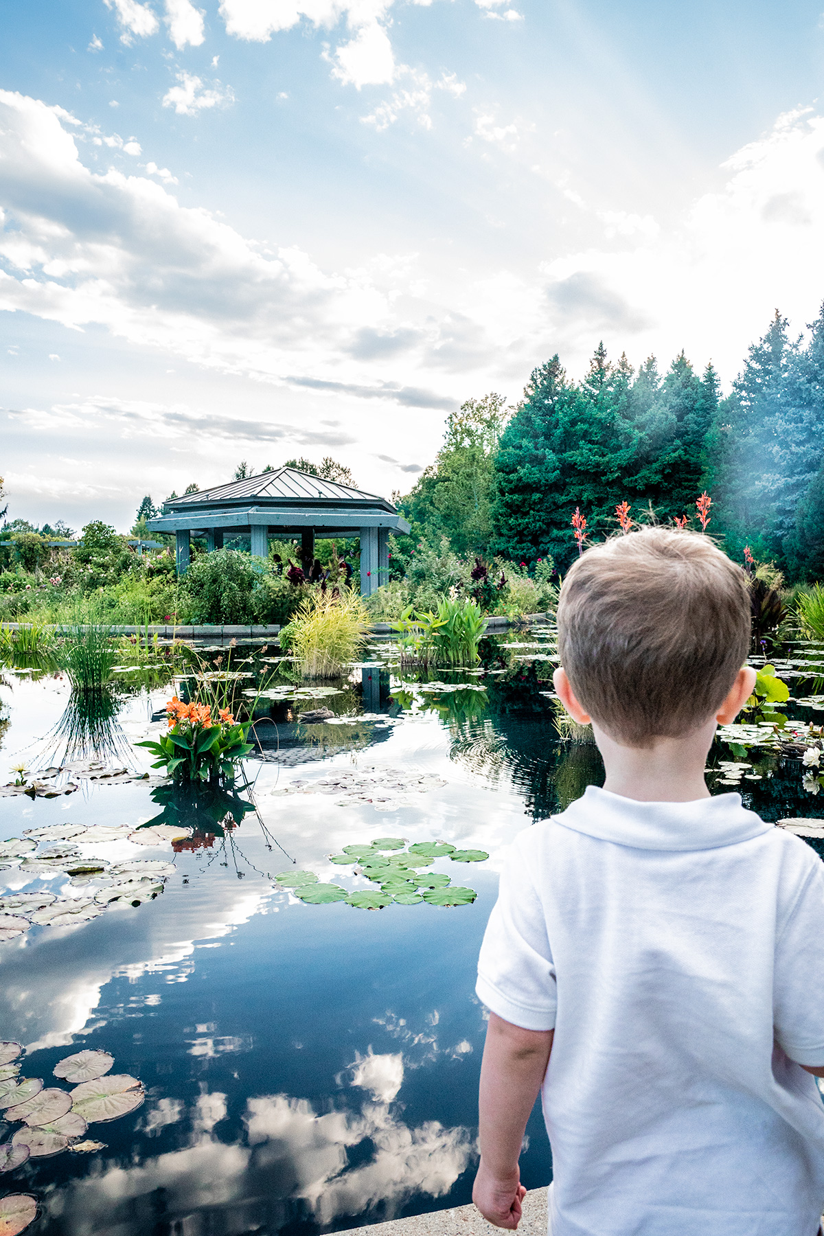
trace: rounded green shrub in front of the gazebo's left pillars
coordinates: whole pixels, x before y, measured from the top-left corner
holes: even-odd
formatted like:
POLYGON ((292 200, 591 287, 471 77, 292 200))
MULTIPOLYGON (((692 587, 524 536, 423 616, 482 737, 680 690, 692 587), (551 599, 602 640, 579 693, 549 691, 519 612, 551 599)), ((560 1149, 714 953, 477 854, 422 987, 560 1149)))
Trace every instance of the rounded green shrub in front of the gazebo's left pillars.
POLYGON ((200 554, 180 585, 187 623, 259 622, 266 562, 236 549, 200 554))

